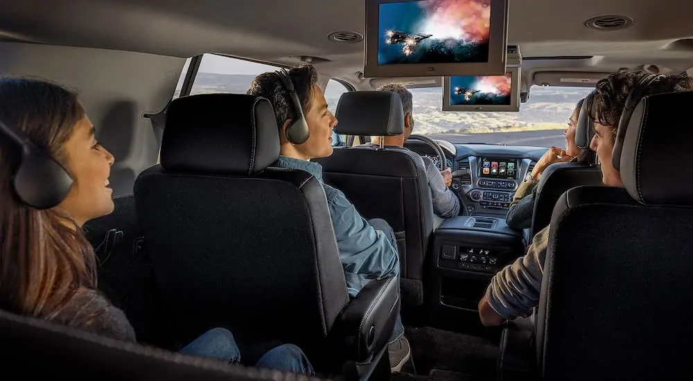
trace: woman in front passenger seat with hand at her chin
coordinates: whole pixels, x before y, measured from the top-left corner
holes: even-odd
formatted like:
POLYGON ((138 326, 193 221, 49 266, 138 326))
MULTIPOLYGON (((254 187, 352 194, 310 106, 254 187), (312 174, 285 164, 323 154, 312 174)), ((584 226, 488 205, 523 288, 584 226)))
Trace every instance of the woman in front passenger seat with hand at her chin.
POLYGON ((575 143, 575 131, 577 130, 577 119, 586 98, 578 100, 575 109, 568 119, 568 127, 565 128, 565 149, 552 147, 549 148, 537 161, 531 173, 527 174, 525 181, 518 186, 513 201, 510 203, 508 215, 505 222, 513 229, 529 229, 532 227, 532 215, 534 214, 534 197, 536 197, 536 184, 539 183, 541 175, 548 166, 553 163, 563 163, 572 161, 575 163, 587 163, 593 155, 589 148, 581 150, 575 143))

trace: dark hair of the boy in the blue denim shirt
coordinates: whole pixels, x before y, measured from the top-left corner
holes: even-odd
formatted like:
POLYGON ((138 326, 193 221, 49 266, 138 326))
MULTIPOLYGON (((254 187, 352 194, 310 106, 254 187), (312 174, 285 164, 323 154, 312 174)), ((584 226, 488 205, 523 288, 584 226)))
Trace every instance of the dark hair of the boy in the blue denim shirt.
MULTIPOLYGON (((313 88, 317 84, 317 70, 311 64, 302 64, 289 70, 289 78, 291 78, 294 89, 299 96, 301 108, 306 114, 310 111, 310 99, 313 97, 313 88)), ((287 119, 296 118, 289 92, 281 82, 279 75, 274 71, 268 71, 255 77, 250 83, 250 89, 245 94, 262 96, 270 100, 280 131, 287 119)))

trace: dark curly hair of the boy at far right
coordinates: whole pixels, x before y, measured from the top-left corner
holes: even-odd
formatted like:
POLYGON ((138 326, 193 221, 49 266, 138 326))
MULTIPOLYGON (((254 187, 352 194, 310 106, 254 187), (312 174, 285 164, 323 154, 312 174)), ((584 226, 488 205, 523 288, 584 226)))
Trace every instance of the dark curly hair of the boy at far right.
MULTIPOLYGON (((597 82, 593 96, 588 97, 585 102, 590 118, 600 125, 611 127, 615 134, 628 94, 640 78, 647 74, 644 71, 624 71, 613 73, 597 82)), ((665 76, 649 85, 644 95, 691 90, 693 90, 693 78, 678 74, 665 76)))

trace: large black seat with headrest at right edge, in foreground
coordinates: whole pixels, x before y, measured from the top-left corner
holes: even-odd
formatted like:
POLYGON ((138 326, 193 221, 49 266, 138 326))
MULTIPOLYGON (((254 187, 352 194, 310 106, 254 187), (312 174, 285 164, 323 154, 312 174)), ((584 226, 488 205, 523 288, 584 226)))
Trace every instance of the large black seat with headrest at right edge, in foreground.
POLYGON ((624 188, 573 188, 556 204, 537 315, 544 380, 693 371, 693 166, 681 147, 692 104, 693 92, 644 98, 624 139, 624 188))

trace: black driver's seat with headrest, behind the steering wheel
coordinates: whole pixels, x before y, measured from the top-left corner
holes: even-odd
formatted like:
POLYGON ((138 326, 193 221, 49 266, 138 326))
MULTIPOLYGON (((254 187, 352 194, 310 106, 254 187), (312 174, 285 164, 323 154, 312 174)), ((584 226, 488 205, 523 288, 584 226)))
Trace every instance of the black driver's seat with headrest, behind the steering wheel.
MULTIPOLYGON (((402 100, 387 91, 351 91, 337 105, 338 134, 392 136, 404 130, 402 100)), ((423 303, 423 258, 433 233, 433 204, 426 173, 414 152, 335 148, 317 159, 323 179, 342 190, 364 218, 382 218, 397 237, 402 303, 423 303)))

